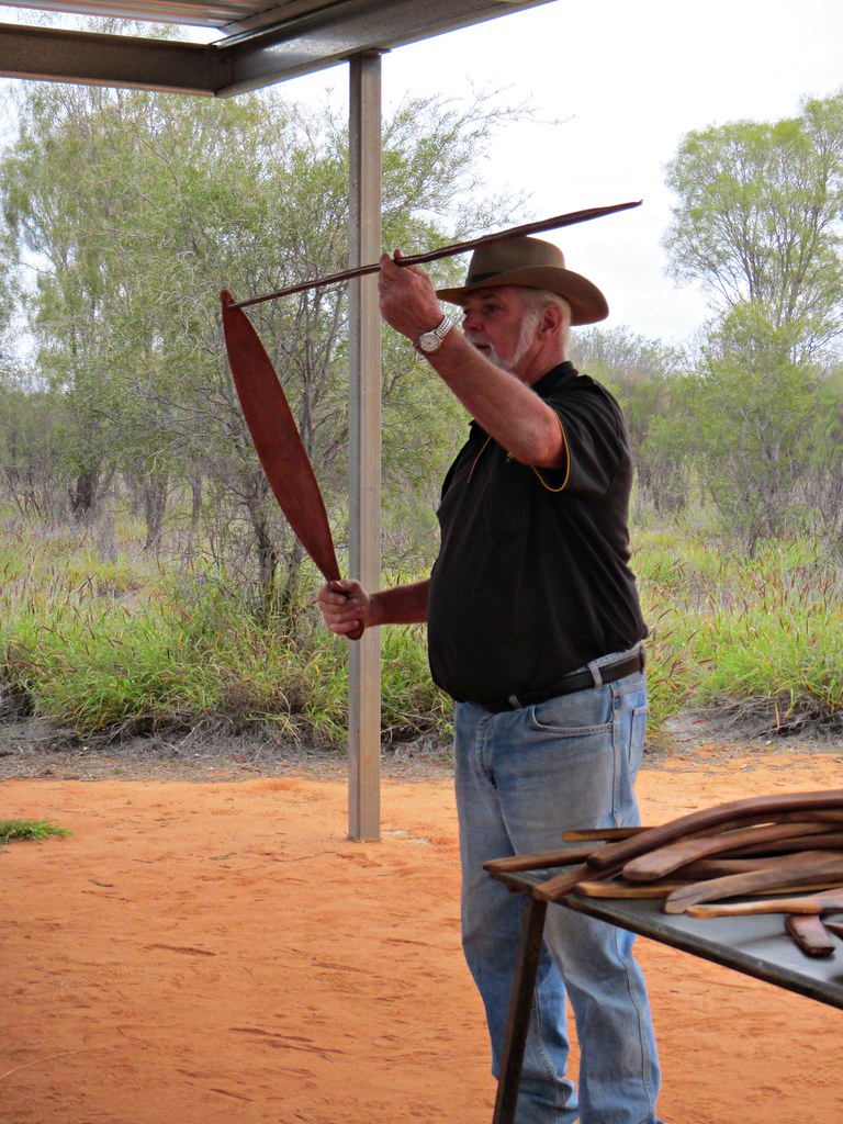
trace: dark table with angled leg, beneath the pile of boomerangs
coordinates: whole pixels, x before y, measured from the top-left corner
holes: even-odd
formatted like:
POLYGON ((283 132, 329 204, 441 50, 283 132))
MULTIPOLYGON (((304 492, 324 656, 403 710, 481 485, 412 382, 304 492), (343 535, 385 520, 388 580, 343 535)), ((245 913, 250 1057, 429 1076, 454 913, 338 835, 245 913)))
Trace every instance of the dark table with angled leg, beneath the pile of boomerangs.
MULTIPOLYGON (((525 895, 492 1124, 513 1124, 515 1121, 547 913, 547 903, 535 898, 533 889, 559 872, 541 870, 491 874, 510 890, 525 895)), ((559 905, 843 1009, 843 942, 837 941, 839 948, 832 957, 808 957, 785 933, 781 914, 704 919, 685 914, 665 914, 660 900, 588 898, 580 894, 569 894, 559 905)))

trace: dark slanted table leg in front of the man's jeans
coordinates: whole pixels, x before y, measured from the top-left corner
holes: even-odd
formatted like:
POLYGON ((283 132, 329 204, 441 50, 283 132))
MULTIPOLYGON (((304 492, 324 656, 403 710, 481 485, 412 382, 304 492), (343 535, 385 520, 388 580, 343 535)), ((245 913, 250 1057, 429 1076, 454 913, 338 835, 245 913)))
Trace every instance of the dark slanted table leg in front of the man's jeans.
POLYGON ((509 998, 507 1032, 504 1041, 504 1054, 500 1059, 498 1095, 495 1100, 492 1124, 514 1124, 515 1122, 515 1108, 518 1102, 518 1087, 524 1066, 524 1050, 527 1044, 527 1031, 533 1009, 546 913, 547 903, 540 901, 532 894, 527 894, 522 918, 518 959, 515 964, 513 991, 509 998))

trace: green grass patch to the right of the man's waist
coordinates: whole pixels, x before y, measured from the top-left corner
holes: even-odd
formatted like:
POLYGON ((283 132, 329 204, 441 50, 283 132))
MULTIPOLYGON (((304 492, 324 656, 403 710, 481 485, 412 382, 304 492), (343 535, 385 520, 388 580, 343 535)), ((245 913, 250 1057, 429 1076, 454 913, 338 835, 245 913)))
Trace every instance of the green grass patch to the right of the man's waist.
POLYGON ((656 723, 692 705, 750 733, 843 728, 837 560, 806 542, 746 559, 662 536, 642 544, 636 562, 656 723))

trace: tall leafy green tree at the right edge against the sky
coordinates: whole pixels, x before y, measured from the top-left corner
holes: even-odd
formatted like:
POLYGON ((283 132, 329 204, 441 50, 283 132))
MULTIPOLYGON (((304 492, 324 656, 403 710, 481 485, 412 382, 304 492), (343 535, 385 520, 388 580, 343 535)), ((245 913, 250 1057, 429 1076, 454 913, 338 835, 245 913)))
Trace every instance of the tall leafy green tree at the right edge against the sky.
POLYGON ((808 518, 823 371, 843 334, 843 92, 791 119, 688 134, 668 184, 672 272, 700 281, 715 314, 697 452, 726 526, 753 550, 808 518))

